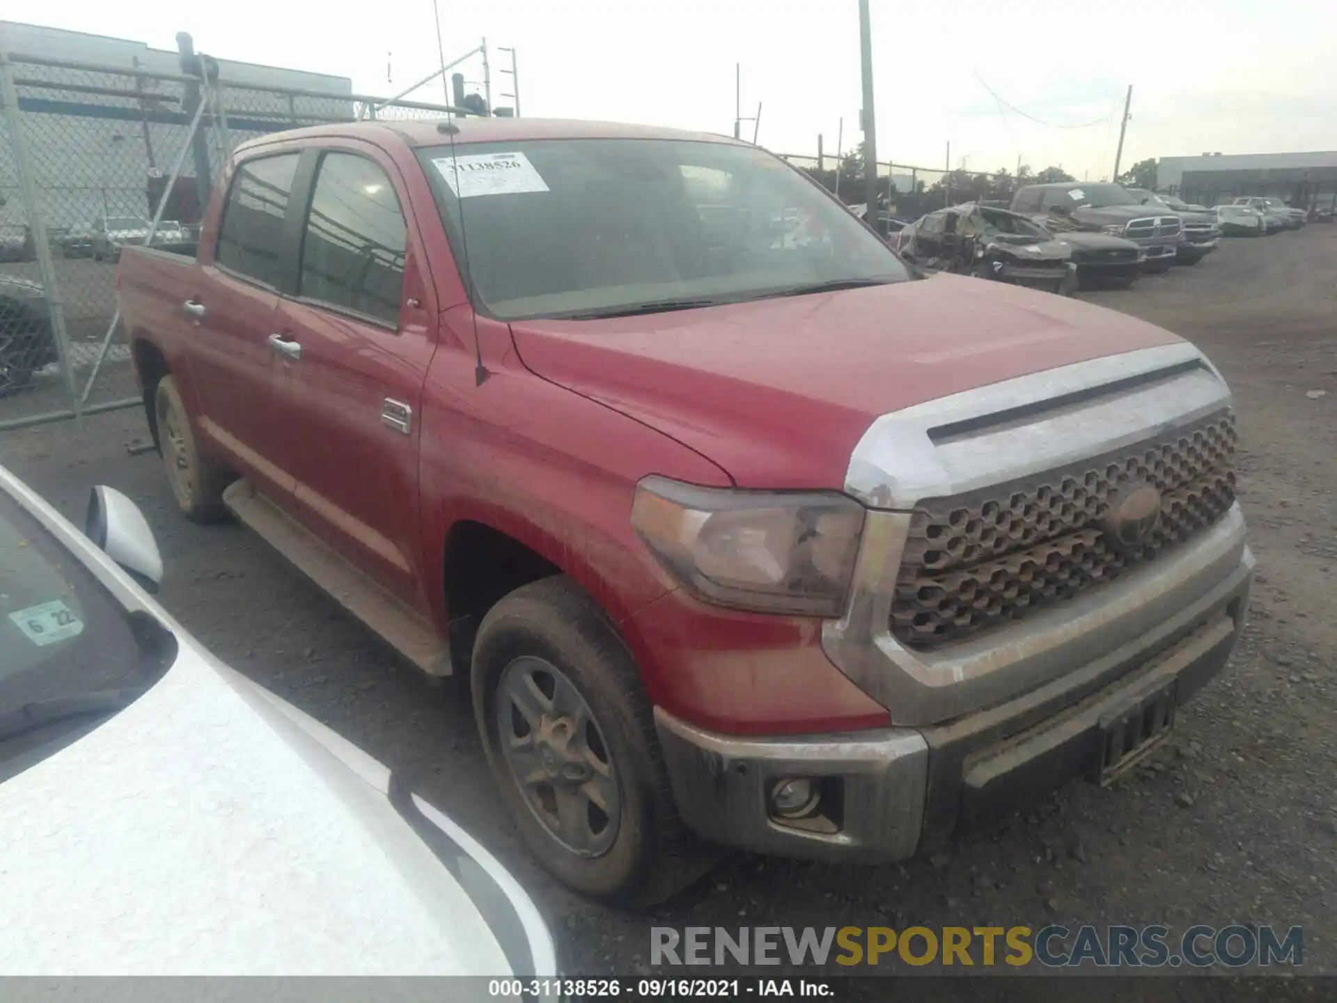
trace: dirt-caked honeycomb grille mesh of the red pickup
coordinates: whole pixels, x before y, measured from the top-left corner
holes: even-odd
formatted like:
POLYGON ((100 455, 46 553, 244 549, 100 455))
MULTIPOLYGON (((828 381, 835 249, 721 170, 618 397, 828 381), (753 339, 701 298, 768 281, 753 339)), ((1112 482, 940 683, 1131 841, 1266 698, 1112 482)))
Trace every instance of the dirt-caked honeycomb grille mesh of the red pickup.
POLYGON ((910 520, 890 630, 940 647, 1110 582, 1207 528, 1234 503, 1235 423, 1219 413, 1082 464, 968 495, 927 499, 910 520), (1138 550, 1100 528, 1110 496, 1143 481, 1161 518, 1138 550))

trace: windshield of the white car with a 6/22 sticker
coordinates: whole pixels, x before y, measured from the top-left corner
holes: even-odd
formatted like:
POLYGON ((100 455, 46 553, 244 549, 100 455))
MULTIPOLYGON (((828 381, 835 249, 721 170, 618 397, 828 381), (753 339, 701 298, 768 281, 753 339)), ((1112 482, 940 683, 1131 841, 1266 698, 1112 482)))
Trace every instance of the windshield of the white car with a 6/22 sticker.
POLYGON ((147 689, 166 667, 162 641, 174 650, 0 491, 0 782, 147 689))

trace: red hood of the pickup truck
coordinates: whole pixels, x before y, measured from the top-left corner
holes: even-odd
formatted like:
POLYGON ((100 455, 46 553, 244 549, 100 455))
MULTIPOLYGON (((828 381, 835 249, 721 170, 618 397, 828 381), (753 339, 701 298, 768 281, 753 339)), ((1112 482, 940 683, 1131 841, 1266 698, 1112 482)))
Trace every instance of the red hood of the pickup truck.
POLYGON ((511 330, 531 370, 660 429, 742 487, 833 489, 882 415, 1178 341, 1076 300, 945 274, 511 330))

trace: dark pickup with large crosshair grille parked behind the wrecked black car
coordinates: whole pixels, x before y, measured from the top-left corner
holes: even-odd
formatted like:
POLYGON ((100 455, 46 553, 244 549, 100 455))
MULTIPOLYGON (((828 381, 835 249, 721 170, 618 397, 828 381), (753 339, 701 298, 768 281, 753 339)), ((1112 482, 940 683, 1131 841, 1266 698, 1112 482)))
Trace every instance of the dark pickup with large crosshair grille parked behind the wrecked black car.
POLYGON ((1104 233, 1132 241, 1146 255, 1143 271, 1169 270, 1185 242, 1177 214, 1143 206, 1122 185, 1110 182, 1025 185, 1012 197, 1012 211, 1056 234, 1104 233))

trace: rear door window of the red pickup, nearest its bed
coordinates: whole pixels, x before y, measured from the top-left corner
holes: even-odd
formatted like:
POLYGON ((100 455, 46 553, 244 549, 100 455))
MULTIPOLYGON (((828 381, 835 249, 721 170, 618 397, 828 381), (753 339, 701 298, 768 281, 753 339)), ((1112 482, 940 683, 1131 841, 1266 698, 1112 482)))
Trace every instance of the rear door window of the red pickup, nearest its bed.
POLYGON ((238 166, 214 251, 214 259, 223 267, 275 289, 281 285, 283 213, 293 193, 297 159, 298 154, 281 154, 238 166))

